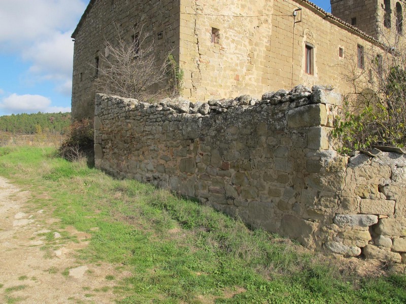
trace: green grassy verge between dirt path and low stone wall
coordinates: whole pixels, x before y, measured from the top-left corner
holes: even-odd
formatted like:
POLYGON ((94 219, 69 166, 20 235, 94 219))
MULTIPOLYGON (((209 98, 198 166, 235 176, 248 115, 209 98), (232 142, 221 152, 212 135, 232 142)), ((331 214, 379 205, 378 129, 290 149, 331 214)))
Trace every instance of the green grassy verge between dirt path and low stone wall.
POLYGON ((0 175, 29 189, 32 206, 53 210, 62 227, 92 235, 83 262, 130 271, 117 280, 119 303, 406 302, 403 274, 357 277, 209 207, 53 155, 1 148, 0 175))

